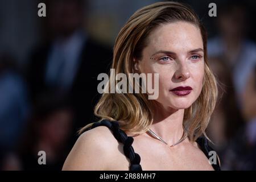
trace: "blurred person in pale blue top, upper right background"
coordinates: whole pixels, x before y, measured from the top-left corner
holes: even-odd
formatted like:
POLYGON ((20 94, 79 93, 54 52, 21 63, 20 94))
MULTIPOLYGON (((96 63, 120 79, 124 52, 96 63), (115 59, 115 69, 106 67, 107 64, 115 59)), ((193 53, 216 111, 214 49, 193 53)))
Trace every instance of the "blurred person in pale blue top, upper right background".
POLYGON ((219 35, 209 39, 209 57, 222 56, 232 73, 238 107, 241 109, 245 84, 256 63, 256 44, 247 38, 247 6, 241 1, 224 1, 218 6, 219 35))

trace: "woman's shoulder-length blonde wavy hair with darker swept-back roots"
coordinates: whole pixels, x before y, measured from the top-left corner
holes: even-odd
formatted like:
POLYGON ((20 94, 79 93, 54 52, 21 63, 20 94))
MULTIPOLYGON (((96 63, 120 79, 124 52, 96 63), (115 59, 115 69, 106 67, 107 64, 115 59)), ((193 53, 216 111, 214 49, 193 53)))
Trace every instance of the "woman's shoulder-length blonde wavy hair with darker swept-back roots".
MULTIPOLYGON (((141 59, 150 32, 160 25, 177 21, 189 22, 199 27, 203 38, 205 60, 203 88, 199 98, 185 109, 183 121, 188 129, 189 140, 195 141, 201 135, 207 137, 205 129, 216 105, 217 85, 207 60, 207 32, 190 7, 177 2, 158 2, 136 11, 122 27, 115 40, 112 68, 115 69, 116 75, 125 73, 129 77, 129 73, 134 73, 133 60, 141 59)), ((154 101, 148 100, 147 94, 141 92, 104 93, 94 109, 94 114, 101 118, 100 121, 103 119, 118 121, 123 131, 142 134, 152 124, 154 105, 154 101)), ((83 127, 80 134, 92 125, 93 123, 89 123, 83 127)))

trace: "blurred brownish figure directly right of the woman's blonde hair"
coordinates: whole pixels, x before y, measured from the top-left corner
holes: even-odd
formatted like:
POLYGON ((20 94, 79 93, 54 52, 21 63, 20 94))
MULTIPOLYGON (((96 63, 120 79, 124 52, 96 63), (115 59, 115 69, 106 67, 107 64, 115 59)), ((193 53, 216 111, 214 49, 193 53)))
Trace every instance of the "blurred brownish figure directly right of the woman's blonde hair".
MULTIPOLYGON (((226 146, 244 124, 242 113, 238 108, 236 92, 232 82, 232 73, 222 57, 212 57, 210 68, 218 81, 218 102, 212 114, 207 133, 223 159, 226 146)), ((221 161, 222 161, 221 160, 221 161)))

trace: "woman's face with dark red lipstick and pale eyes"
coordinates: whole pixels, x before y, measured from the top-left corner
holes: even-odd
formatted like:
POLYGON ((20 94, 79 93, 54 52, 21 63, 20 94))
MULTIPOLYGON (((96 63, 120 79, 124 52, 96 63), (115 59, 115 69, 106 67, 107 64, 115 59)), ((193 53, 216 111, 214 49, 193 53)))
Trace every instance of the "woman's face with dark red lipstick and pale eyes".
POLYGON ((159 73, 156 101, 165 109, 186 109, 199 97, 204 77, 203 48, 200 29, 187 22, 164 24, 148 36, 142 60, 135 67, 141 73, 159 73), (179 86, 192 90, 171 91, 179 86))

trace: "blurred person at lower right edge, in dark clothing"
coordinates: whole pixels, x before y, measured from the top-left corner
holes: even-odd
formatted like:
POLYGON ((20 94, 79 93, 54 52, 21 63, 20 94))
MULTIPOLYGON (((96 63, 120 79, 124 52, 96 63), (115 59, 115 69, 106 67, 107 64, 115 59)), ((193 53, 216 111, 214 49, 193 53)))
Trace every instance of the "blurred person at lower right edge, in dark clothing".
MULTIPOLYGON (((256 68, 256 67, 254 67, 256 68)), ((222 167, 227 170, 256 170, 256 69, 250 74, 243 93, 242 116, 245 126, 238 131, 225 152, 222 167)))

